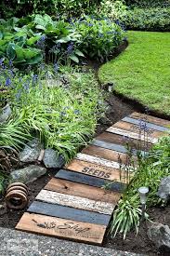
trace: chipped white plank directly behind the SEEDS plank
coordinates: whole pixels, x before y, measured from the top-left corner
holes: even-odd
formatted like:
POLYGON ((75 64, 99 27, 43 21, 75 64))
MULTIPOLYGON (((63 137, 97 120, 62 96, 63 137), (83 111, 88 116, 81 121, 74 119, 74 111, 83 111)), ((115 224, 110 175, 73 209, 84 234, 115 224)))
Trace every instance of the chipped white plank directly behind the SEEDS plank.
POLYGON ((98 164, 107 168, 120 168, 120 164, 118 162, 109 161, 94 155, 86 155, 84 153, 78 153, 75 158, 80 161, 98 164))

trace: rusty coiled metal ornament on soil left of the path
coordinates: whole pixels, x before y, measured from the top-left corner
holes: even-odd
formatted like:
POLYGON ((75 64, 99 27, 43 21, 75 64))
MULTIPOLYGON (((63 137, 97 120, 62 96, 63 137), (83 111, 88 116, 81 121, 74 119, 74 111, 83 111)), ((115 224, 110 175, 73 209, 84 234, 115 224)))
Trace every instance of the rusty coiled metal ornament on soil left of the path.
POLYGON ((7 187, 6 204, 8 209, 24 209, 28 204, 28 187, 15 182, 7 187))

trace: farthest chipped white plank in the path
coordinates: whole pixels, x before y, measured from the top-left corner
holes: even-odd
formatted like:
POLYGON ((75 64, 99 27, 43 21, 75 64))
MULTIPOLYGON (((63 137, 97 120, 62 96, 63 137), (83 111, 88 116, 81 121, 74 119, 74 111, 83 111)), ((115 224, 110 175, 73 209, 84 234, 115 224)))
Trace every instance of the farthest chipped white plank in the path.
MULTIPOLYGON (((139 141, 146 141, 146 137, 144 135, 138 135, 136 132, 124 130, 124 129, 121 129, 121 128, 113 128, 113 127, 111 127, 111 128, 108 128, 107 131, 111 132, 111 133, 119 134, 119 135, 122 135, 122 136, 127 136, 127 137, 129 137, 131 139, 135 139, 135 140, 139 140, 139 141)), ((151 138, 149 136, 148 137, 148 141, 150 143, 157 143, 158 139, 151 138)))

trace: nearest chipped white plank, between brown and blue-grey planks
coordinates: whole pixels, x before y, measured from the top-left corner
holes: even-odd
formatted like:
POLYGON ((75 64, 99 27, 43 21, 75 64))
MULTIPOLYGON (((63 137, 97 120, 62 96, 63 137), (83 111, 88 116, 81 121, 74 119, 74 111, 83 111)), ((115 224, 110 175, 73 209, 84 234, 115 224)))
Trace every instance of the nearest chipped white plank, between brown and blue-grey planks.
POLYGON ((36 196, 37 200, 51 204, 59 204, 61 206, 72 207, 75 209, 86 209, 103 214, 111 215, 115 205, 107 202, 91 200, 85 197, 75 195, 65 195, 58 192, 41 190, 36 196))

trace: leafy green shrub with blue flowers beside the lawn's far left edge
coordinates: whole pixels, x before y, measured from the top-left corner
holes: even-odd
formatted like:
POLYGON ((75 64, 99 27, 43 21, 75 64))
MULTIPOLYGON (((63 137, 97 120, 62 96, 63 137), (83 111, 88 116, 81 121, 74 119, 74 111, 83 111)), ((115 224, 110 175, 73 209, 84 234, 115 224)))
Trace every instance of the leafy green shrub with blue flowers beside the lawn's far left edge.
POLYGON ((112 55, 124 38, 123 29, 115 22, 85 17, 73 22, 76 31, 82 35, 79 48, 91 59, 105 61, 112 55))

